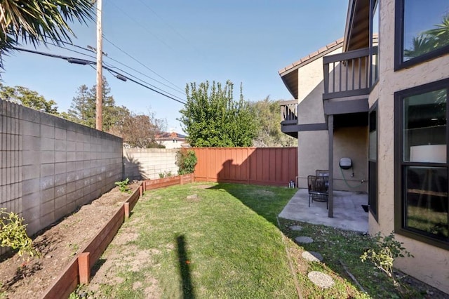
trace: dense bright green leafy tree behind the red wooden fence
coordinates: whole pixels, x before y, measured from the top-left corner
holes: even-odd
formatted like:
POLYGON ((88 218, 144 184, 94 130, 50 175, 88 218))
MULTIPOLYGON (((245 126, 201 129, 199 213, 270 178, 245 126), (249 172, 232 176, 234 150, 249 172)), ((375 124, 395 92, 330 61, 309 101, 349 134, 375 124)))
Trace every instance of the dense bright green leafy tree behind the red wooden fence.
POLYGON ((192 147, 248 147, 257 132, 248 102, 233 99, 234 84, 209 82, 186 86, 187 104, 180 110, 182 129, 192 147))

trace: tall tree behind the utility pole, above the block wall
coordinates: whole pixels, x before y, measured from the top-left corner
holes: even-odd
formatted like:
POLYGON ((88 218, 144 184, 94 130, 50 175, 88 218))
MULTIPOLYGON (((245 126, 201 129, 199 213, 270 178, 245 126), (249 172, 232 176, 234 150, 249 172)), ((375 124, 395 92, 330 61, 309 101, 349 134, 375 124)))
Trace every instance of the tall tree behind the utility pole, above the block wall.
MULTIPOLYGON (((111 88, 109 88, 107 80, 103 78, 102 127, 104 131, 109 131, 114 126, 121 126, 123 120, 130 115, 128 108, 115 105, 114 97, 109 95, 110 92, 111 88)), ((67 113, 62 113, 62 117, 95 128, 96 98, 96 85, 92 88, 88 88, 86 85, 79 86, 70 109, 67 110, 67 113)))

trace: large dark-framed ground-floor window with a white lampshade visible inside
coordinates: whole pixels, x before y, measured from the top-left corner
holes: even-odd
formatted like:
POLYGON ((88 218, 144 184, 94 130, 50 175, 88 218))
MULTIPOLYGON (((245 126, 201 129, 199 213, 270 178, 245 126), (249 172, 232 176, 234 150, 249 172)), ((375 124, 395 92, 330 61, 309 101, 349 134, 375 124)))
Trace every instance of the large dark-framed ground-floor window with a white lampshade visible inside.
POLYGON ((395 230, 447 249, 448 92, 445 79, 395 93, 395 230))

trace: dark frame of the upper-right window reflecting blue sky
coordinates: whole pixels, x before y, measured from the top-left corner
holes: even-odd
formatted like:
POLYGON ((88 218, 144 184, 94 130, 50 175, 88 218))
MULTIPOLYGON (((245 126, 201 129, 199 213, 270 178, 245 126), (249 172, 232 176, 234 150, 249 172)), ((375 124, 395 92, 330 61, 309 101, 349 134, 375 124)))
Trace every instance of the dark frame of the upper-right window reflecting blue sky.
POLYGON ((403 61, 403 45, 404 45, 404 4, 405 0, 395 0, 395 15, 394 15, 394 70, 398 71, 414 65, 418 65, 428 60, 433 60, 442 55, 449 53, 449 45, 443 46, 425 53, 418 57, 403 61))

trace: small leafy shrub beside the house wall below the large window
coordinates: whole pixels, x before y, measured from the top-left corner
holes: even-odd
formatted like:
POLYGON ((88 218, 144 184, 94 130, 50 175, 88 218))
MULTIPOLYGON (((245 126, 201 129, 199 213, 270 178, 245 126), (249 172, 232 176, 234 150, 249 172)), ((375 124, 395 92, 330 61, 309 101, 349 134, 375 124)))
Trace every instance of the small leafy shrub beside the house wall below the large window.
POLYGON ((394 232, 386 237, 382 237, 380 232, 377 232, 374 239, 376 241, 374 248, 368 249, 361 255, 362 263, 369 260, 377 269, 387 274, 387 277, 393 281, 395 286, 398 286, 393 274, 394 259, 404 258, 405 256, 413 258, 413 255, 406 251, 402 242, 394 239, 394 232))

